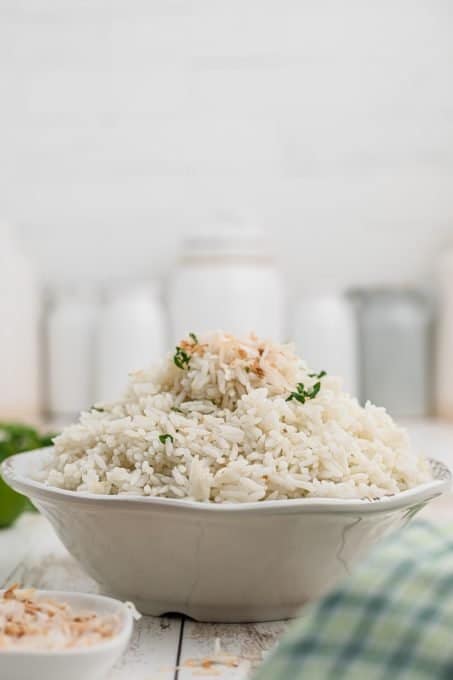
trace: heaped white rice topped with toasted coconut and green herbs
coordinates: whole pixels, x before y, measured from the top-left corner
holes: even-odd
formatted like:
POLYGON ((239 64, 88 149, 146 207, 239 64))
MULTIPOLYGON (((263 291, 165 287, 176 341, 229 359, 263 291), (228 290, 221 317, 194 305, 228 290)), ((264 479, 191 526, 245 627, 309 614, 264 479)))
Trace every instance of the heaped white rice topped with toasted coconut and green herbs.
POLYGON ((223 503, 375 499, 431 478, 385 409, 361 407, 338 378, 315 377, 291 345, 216 332, 181 346, 182 368, 170 354, 132 373, 121 401, 66 428, 41 479, 223 503), (305 403, 288 401, 298 383, 310 394, 318 382, 305 403))

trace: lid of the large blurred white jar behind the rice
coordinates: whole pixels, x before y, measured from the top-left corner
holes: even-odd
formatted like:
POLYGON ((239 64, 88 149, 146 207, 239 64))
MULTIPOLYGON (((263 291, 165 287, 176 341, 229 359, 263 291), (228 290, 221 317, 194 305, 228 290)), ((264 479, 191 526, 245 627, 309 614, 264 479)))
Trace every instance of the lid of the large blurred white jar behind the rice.
POLYGON ((183 241, 183 257, 263 257, 269 255, 266 237, 259 229, 219 226, 200 231, 183 241))

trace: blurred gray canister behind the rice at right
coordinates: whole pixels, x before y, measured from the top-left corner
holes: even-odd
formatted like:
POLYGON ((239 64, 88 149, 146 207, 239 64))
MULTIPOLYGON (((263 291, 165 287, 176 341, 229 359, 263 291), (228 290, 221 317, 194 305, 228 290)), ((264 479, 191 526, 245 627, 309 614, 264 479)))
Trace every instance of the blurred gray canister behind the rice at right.
POLYGON ((423 293, 379 288, 353 293, 361 355, 361 397, 397 417, 431 410, 431 305, 423 293))

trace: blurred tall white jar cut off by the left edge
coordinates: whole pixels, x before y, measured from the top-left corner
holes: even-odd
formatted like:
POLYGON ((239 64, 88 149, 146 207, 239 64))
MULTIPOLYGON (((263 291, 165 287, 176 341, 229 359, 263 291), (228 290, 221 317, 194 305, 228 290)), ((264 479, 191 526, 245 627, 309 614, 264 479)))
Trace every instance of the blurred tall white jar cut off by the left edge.
POLYGON ((40 297, 31 263, 0 223, 0 418, 36 418, 40 297))

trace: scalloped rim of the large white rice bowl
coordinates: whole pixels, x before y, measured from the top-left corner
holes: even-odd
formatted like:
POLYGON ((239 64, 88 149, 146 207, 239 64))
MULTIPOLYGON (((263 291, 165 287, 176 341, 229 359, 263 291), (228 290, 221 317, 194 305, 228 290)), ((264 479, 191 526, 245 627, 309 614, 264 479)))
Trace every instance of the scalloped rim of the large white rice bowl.
POLYGON ((0 466, 0 472, 4 480, 16 491, 23 493, 31 499, 43 499, 58 501, 69 501, 76 504, 101 505, 113 508, 144 509, 160 508, 172 510, 192 510, 207 513, 250 513, 250 512, 384 512, 412 506, 418 503, 425 503, 441 494, 445 493, 452 483, 452 472, 448 466, 437 459, 428 458, 433 474, 436 474, 436 467, 440 468, 441 474, 434 477, 432 481, 420 484, 412 489, 401 491, 392 496, 384 496, 376 500, 366 500, 361 498, 294 498, 288 500, 263 500, 246 503, 207 503, 192 501, 188 499, 161 498, 157 496, 140 495, 102 495, 88 493, 85 491, 68 491, 57 487, 49 486, 38 482, 27 476, 26 470, 30 463, 44 462, 45 457, 50 455, 53 447, 35 449, 24 453, 10 456, 0 466))

